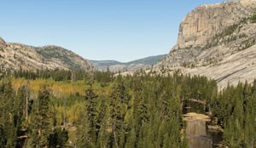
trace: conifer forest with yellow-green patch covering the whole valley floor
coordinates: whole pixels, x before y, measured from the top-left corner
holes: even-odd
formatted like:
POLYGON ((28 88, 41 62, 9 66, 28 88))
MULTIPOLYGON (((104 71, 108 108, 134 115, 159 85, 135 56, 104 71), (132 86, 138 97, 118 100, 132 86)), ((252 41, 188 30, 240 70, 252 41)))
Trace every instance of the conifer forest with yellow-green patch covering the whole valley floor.
POLYGON ((2 77, 0 94, 0 147, 189 147, 190 99, 207 102, 223 145, 255 147, 256 83, 218 92, 207 77, 20 71, 2 77))

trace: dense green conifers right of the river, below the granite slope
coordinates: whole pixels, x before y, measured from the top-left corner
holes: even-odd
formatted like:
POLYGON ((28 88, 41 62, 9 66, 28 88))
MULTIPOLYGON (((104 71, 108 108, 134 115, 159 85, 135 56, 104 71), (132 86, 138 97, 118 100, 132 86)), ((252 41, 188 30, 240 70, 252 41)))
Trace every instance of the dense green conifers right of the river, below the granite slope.
POLYGON ((212 113, 224 128, 224 144, 255 147, 256 81, 228 86, 212 101, 212 113))

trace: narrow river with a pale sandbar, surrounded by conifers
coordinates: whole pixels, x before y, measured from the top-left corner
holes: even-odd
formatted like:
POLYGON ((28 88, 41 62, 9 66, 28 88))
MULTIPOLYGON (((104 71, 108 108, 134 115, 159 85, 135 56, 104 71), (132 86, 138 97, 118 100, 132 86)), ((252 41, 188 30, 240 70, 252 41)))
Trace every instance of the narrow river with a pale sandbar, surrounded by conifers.
POLYGON ((222 141, 221 132, 207 128, 211 118, 204 112, 203 105, 194 102, 190 102, 186 110, 183 111, 189 148, 217 148, 222 141))

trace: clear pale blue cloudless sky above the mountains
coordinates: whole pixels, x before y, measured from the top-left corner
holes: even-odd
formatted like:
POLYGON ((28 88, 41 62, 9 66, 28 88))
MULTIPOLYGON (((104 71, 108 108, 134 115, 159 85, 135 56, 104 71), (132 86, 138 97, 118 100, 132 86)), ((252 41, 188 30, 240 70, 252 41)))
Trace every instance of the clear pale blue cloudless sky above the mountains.
POLYGON ((223 0, 8 0, 0 37, 9 43, 57 45, 89 60, 127 62, 168 54, 184 16, 223 0))

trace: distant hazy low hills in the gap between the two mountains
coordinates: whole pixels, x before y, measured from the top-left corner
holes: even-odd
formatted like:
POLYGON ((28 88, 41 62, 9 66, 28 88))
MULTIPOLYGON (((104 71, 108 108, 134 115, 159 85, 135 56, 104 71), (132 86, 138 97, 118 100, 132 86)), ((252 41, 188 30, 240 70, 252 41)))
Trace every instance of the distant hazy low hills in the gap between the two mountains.
POLYGON ((166 54, 150 56, 140 60, 133 60, 130 62, 122 63, 116 60, 90 60, 98 71, 138 71, 141 69, 150 68, 158 61, 162 60, 166 54))

